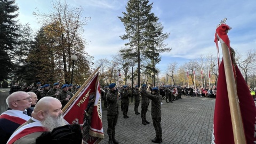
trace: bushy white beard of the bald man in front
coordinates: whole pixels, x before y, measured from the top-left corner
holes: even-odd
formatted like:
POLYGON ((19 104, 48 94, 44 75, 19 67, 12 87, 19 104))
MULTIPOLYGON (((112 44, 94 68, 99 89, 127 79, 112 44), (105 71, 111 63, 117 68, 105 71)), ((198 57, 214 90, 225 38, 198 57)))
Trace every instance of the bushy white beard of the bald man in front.
POLYGON ((62 114, 59 115, 57 118, 47 115, 46 119, 42 122, 42 124, 50 132, 56 127, 66 125, 62 114))

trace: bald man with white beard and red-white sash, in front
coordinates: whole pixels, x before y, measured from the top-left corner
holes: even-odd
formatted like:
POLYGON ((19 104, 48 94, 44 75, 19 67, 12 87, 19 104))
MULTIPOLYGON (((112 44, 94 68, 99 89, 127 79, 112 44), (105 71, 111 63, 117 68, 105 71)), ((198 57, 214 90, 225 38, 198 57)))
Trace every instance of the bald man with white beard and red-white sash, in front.
POLYGON ((11 135, 7 143, 36 143, 36 138, 43 132, 66 125, 61 107, 56 98, 42 98, 37 102, 32 117, 11 135))

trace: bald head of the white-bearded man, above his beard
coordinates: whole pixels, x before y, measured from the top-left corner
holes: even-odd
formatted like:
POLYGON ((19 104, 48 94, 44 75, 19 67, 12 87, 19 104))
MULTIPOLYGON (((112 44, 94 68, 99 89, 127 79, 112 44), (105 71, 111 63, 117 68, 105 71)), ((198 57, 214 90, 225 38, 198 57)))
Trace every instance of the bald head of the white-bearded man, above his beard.
POLYGON ((44 97, 36 103, 32 117, 39 121, 44 121, 47 115, 58 117, 62 114, 61 107, 61 102, 58 99, 44 97))

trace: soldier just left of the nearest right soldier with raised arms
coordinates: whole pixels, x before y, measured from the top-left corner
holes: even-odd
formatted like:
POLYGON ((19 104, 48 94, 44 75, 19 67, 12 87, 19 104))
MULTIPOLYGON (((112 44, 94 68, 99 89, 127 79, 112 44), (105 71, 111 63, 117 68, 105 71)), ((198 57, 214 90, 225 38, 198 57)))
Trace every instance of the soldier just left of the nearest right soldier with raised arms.
POLYGON ((142 93, 144 90, 146 91, 146 84, 143 84, 141 86, 141 90, 140 90, 140 93, 141 93, 141 119, 142 119, 142 124, 143 125, 146 125, 149 124, 149 122, 147 121, 146 119, 146 113, 147 113, 147 109, 148 109, 148 98, 146 97, 146 94, 145 93, 142 93))

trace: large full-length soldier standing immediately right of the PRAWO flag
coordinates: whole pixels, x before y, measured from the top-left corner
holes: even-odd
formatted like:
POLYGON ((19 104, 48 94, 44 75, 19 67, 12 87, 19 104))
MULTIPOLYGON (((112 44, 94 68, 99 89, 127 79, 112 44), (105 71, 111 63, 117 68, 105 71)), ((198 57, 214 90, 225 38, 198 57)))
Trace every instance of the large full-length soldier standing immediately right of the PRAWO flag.
POLYGON ((118 111, 118 91, 116 90, 116 84, 109 84, 107 94, 107 120, 108 120, 108 143, 118 143, 115 139, 116 123, 119 115, 118 111))

